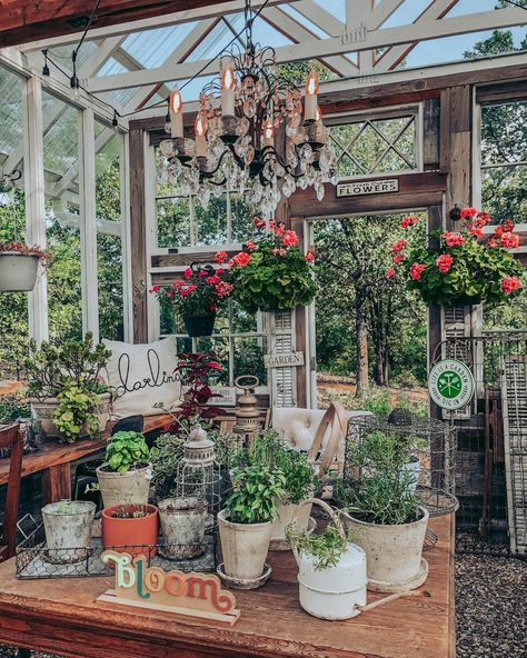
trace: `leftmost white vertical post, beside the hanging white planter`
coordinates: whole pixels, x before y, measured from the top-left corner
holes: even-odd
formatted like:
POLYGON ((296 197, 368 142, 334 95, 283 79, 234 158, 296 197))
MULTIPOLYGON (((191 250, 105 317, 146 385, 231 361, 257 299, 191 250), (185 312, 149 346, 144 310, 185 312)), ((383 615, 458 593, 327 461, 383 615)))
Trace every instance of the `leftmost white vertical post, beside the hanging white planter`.
MULTIPOLYGON (((28 245, 46 248, 46 205, 43 177, 42 87, 37 77, 27 81, 24 130, 24 191, 28 245)), ((29 333, 40 343, 48 339, 48 288, 46 272, 28 299, 29 333)))

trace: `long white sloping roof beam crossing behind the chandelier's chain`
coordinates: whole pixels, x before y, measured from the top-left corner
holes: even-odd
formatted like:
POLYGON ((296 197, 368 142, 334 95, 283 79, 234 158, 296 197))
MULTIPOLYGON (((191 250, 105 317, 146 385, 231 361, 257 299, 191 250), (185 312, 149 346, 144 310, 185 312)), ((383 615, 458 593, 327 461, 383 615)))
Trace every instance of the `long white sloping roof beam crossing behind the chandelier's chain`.
MULTIPOLYGON (((386 46, 408 43, 415 40, 439 39, 455 34, 480 32, 485 30, 509 28, 521 26, 527 22, 527 12, 523 9, 510 8, 495 11, 484 11, 467 16, 444 18, 441 20, 427 20, 418 24, 398 26, 396 28, 384 28, 367 32, 365 40, 355 43, 339 37, 331 39, 319 39, 282 46, 276 49, 276 61, 278 63, 298 61, 305 59, 324 58, 334 54, 342 54, 349 51, 375 50, 386 46)), ((209 76, 218 71, 219 62, 211 61, 205 70, 207 61, 195 61, 183 63, 169 63, 157 69, 136 71, 105 78, 91 78, 88 81, 89 90, 92 92, 110 91, 112 89, 126 89, 129 87, 141 87, 156 84, 168 80, 185 80, 192 76, 209 76)))

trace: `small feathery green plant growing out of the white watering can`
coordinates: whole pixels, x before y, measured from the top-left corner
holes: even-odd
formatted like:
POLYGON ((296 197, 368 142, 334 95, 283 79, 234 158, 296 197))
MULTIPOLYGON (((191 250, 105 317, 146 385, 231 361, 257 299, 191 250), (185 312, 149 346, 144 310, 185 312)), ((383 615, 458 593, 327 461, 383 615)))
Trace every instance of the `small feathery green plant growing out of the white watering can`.
POLYGON ((342 537, 332 525, 319 534, 300 531, 291 525, 286 528, 286 539, 289 546, 295 545, 300 554, 314 558, 315 569, 335 567, 351 541, 350 537, 342 537))

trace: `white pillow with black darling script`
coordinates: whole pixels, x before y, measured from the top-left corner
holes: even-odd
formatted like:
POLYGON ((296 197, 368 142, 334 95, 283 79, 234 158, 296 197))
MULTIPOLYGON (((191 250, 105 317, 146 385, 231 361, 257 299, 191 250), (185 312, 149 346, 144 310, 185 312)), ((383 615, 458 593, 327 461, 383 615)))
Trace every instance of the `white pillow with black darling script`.
POLYGON ((176 339, 165 338, 146 345, 103 340, 111 350, 108 361, 108 383, 115 387, 113 416, 155 416, 162 413, 153 405, 178 406, 181 385, 176 372, 176 339))

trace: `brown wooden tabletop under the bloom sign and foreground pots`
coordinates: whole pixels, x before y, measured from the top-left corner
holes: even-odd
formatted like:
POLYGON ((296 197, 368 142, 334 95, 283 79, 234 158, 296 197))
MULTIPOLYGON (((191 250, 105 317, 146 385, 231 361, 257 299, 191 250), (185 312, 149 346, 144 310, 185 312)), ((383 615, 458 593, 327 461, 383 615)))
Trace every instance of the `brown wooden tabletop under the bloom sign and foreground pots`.
MULTIPOLYGON (((266 586, 237 591, 239 621, 215 627, 161 614, 105 609, 95 599, 112 578, 17 580, 0 565, 0 642, 74 658, 454 658, 454 520, 431 519, 439 535, 425 554, 429 597, 400 598, 348 621, 324 621, 298 604, 290 552, 271 552, 266 586)), ((368 592, 368 602, 381 595, 368 592)))

